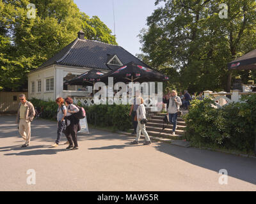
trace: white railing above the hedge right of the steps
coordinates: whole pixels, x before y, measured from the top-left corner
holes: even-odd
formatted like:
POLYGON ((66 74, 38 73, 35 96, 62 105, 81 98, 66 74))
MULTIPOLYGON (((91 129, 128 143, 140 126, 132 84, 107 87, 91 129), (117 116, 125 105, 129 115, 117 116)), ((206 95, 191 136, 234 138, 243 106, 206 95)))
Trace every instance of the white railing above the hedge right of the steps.
POLYGON ((256 92, 241 92, 240 90, 232 90, 231 92, 212 92, 212 91, 204 91, 204 98, 212 97, 214 99, 214 107, 221 108, 228 103, 236 103, 241 101, 242 95, 248 95, 256 92), (227 98, 227 96, 231 96, 227 98))

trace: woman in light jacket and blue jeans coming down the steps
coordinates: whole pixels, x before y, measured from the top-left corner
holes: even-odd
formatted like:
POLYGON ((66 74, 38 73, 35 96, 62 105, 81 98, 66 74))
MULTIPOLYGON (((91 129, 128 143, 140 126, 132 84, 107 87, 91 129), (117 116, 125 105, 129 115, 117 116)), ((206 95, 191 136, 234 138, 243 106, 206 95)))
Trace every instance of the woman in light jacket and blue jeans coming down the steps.
POLYGON ((167 106, 167 109, 168 109, 167 115, 169 115, 170 123, 173 124, 172 135, 175 135, 175 130, 176 130, 176 126, 177 126, 177 115, 178 115, 177 112, 180 109, 180 105, 182 105, 182 102, 181 102, 179 96, 177 96, 177 92, 173 90, 171 92, 171 98, 170 98, 169 104, 167 106))

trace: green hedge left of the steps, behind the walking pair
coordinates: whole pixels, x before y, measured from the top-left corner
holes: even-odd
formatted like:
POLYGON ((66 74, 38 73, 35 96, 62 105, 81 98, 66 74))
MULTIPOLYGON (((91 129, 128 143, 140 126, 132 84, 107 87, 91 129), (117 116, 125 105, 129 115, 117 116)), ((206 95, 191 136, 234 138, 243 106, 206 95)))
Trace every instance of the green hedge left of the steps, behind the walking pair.
MULTIPOLYGON (((54 101, 42 101, 40 99, 29 99, 36 107, 42 107, 42 118, 56 119, 58 105, 54 101)), ((79 106, 81 103, 77 103, 79 106)), ((93 105, 83 106, 86 111, 88 124, 101 127, 112 127, 121 131, 132 128, 129 116, 130 105, 93 105)))

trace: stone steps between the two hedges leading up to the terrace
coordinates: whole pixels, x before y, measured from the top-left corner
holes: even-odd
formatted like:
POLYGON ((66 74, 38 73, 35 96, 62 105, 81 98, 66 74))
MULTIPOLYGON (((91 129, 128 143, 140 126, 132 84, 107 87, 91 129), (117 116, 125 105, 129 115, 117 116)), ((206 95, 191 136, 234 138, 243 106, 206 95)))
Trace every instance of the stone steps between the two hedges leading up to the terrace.
POLYGON ((166 113, 154 113, 148 117, 148 122, 146 124, 146 130, 150 138, 155 138, 164 142, 172 142, 173 140, 182 140, 184 139, 184 133, 186 129, 186 123, 182 117, 177 118, 177 126, 175 135, 172 135, 172 124, 164 124, 166 128, 163 130, 163 119, 166 113))

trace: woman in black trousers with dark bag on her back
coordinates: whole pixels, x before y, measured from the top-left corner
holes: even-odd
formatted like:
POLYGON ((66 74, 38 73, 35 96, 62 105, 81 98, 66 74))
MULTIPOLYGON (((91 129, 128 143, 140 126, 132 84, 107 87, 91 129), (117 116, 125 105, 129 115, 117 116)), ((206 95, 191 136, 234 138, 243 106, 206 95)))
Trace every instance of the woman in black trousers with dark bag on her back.
POLYGON ((78 149, 77 132, 81 127, 79 119, 72 114, 79 112, 79 108, 73 104, 72 98, 69 97, 65 99, 65 105, 67 106, 67 116, 65 117, 65 119, 67 119, 67 128, 65 129, 65 135, 69 142, 67 149, 76 150, 78 149))

